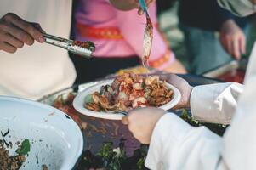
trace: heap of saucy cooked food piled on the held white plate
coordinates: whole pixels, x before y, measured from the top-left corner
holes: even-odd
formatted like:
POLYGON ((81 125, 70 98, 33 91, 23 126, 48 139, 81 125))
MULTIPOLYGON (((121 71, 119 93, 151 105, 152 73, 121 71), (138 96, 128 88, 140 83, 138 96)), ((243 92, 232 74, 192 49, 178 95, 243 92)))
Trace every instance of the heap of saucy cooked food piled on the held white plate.
POLYGON ((91 111, 130 111, 145 106, 162 106, 174 96, 166 82, 159 77, 141 77, 125 73, 117 77, 111 85, 102 86, 100 92, 89 94, 85 99, 85 108, 91 111))

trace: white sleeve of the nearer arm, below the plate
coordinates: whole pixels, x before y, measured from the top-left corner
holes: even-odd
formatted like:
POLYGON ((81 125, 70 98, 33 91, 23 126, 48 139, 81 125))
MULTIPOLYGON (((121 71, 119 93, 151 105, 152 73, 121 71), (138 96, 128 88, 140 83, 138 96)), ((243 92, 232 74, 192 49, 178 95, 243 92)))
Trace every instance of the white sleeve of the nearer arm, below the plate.
POLYGON ((222 139, 206 127, 191 127, 179 116, 161 117, 152 134, 145 166, 152 170, 215 169, 222 139))

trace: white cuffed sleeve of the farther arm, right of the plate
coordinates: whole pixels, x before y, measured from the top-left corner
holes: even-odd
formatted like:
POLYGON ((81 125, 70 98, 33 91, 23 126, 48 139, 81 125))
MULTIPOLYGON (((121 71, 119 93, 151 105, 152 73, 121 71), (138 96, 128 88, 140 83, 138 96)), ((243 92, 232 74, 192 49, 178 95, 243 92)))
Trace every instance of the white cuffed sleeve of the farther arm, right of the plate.
POLYGON ((202 85, 191 93, 191 113, 200 122, 230 124, 243 85, 236 82, 202 85))

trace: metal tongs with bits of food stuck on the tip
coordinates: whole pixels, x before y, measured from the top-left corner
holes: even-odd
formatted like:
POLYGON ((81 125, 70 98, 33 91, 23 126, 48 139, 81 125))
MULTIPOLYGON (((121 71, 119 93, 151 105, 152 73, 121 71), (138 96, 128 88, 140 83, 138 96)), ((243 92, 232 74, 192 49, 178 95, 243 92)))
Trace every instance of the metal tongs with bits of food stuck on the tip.
POLYGON ((76 41, 65 39, 62 37, 56 37, 49 34, 43 34, 45 42, 59 48, 65 48, 73 54, 81 55, 85 58, 91 58, 95 51, 95 46, 93 42, 82 42, 88 45, 87 48, 80 46, 76 41))

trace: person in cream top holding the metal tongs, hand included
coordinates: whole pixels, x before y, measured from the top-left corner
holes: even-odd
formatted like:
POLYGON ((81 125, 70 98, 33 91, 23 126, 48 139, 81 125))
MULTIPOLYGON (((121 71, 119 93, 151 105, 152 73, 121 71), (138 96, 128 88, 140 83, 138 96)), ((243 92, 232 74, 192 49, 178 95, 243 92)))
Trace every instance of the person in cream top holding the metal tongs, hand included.
POLYGON ((43 30, 50 34, 69 37, 71 5, 70 0, 1 1, 1 95, 39 99, 43 95, 70 87, 73 84, 76 71, 67 51, 38 43, 44 42, 40 29, 35 29, 37 26, 33 25, 33 27, 31 23, 25 21, 40 23, 43 30), (9 12, 14 14, 5 15, 9 12), (36 39, 35 42, 34 39, 36 39), (33 45, 28 47, 27 44, 33 45), (19 49, 17 50, 17 48, 19 49), (15 54, 9 54, 3 50, 9 53, 17 51, 15 54))

